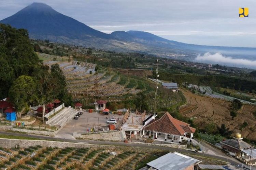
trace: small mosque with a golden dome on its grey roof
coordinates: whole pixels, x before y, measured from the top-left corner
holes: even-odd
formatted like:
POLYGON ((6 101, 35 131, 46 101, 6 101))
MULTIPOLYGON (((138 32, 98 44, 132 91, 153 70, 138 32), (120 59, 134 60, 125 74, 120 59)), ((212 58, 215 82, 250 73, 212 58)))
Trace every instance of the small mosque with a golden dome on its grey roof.
POLYGON ((231 156, 236 157, 245 164, 256 165, 256 149, 242 140, 240 133, 237 133, 233 139, 220 142, 222 149, 231 156))

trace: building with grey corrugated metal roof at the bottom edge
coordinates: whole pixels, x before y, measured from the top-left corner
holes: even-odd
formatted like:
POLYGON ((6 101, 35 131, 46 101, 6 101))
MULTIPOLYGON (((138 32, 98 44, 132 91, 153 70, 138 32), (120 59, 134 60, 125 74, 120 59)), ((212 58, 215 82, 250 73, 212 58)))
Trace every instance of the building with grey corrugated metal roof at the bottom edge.
MULTIPOLYGON (((147 163, 147 170, 194 170, 201 160, 183 155, 179 152, 165 154, 147 163)), ((146 170, 146 168, 144 168, 146 170)))

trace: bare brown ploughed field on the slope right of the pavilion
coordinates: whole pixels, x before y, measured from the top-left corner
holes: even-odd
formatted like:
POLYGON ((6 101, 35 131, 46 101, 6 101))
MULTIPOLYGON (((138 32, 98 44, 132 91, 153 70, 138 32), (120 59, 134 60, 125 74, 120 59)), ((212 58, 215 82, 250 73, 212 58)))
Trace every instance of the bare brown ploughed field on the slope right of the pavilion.
POLYGON ((249 139, 256 139, 256 119, 253 116, 253 112, 256 107, 253 105, 243 105, 238 111, 238 116, 230 116, 231 103, 225 100, 203 97, 193 94, 189 90, 182 90, 188 104, 180 108, 180 113, 188 118, 193 118, 199 128, 203 128, 205 125, 214 123, 218 126, 225 124, 234 133, 241 133, 243 137, 249 139), (192 110, 190 111, 189 109, 192 110), (241 125, 244 122, 248 123, 248 126, 241 130, 241 125))

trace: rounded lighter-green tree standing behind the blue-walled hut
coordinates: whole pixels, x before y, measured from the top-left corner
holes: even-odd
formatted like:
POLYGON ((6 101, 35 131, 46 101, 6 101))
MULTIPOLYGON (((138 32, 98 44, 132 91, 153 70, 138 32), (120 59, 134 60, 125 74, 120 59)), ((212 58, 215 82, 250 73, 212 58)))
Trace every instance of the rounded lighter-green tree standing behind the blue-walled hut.
POLYGON ((35 96, 35 82, 32 77, 21 75, 14 81, 9 91, 9 97, 17 110, 17 118, 19 118, 29 103, 32 103, 35 96))

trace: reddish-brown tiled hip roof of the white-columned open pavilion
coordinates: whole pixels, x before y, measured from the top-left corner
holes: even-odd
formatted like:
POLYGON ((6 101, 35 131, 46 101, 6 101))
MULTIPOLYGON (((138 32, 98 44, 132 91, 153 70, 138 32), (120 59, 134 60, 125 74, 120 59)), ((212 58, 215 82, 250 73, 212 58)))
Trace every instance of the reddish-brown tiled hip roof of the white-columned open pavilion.
POLYGON ((196 129, 191 128, 189 124, 174 119, 168 112, 160 119, 151 121, 144 127, 144 130, 167 133, 173 135, 183 135, 186 133, 195 133, 196 129))

